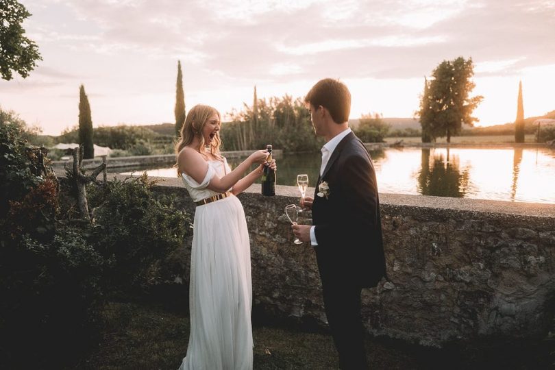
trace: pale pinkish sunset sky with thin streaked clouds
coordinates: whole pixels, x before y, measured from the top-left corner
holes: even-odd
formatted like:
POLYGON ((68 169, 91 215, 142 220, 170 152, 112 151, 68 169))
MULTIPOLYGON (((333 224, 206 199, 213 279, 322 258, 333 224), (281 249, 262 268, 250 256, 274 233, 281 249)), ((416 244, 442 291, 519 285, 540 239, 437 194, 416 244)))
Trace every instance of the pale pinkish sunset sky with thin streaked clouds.
POLYGON ((84 84, 93 125, 174 122, 177 60, 188 110, 223 114, 258 97, 303 97, 323 77, 352 95, 351 118, 411 117, 424 76, 475 64, 478 125, 555 110, 555 1, 23 0, 42 61, 0 79, 0 108, 44 134, 77 124, 84 84))

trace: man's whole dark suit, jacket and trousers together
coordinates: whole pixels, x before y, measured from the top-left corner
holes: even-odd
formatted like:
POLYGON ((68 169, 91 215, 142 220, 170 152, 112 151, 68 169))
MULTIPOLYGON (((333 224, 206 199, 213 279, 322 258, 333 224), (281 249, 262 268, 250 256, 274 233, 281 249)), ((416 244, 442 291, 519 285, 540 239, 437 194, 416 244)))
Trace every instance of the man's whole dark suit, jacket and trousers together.
POLYGON ((312 225, 325 312, 341 368, 365 369, 360 292, 386 276, 386 265, 373 163, 352 132, 338 143, 318 179, 312 225), (322 182, 330 189, 327 198, 318 195, 322 182))

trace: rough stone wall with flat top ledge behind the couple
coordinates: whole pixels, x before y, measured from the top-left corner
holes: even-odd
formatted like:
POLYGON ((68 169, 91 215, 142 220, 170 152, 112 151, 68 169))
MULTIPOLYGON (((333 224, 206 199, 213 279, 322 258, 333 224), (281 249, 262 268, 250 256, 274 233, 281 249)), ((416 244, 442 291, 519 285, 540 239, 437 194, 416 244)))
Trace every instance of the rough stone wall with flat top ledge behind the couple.
MULTIPOLYGON (((156 192, 179 195, 193 214, 179 180, 165 179, 156 192)), ((325 325, 314 252, 293 244, 284 216, 298 190, 277 186, 276 193, 262 197, 255 184, 239 195, 251 238, 253 312, 325 325)), ((555 205, 392 194, 380 200, 388 281, 363 291, 369 333, 441 347, 547 332, 555 309, 555 205)), ((168 262, 167 280, 184 288, 191 239, 168 262)))

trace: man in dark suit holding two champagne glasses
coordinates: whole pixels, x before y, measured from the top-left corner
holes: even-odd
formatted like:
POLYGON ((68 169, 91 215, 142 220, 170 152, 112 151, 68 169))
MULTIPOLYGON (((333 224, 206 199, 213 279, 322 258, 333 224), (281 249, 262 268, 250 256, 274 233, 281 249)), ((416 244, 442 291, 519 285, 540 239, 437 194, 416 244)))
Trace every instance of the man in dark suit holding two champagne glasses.
POLYGON ((349 128, 351 93, 336 79, 322 79, 305 97, 312 126, 325 138, 311 225, 292 225, 316 251, 325 314, 341 369, 368 369, 360 315, 362 288, 386 276, 378 185, 366 147, 349 128))

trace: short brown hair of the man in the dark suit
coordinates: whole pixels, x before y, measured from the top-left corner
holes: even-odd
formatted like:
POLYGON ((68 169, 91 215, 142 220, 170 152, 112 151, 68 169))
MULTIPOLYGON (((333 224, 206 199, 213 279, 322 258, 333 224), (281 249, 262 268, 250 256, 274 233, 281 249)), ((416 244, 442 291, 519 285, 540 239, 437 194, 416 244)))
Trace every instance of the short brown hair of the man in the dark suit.
POLYGON ((304 102, 312 104, 314 107, 326 108, 335 123, 349 121, 351 93, 347 86, 338 79, 321 79, 306 94, 304 102))

